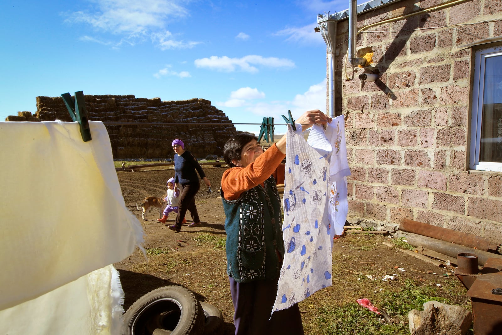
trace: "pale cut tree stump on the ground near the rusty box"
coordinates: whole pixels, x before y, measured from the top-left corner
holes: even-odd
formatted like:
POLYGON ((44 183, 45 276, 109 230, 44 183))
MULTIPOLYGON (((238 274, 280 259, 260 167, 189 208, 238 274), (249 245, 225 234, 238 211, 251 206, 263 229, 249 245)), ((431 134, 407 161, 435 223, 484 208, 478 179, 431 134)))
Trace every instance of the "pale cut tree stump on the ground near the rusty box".
POLYGON ((411 335, 465 335, 472 313, 460 306, 427 301, 424 310, 410 310, 408 321, 411 335))

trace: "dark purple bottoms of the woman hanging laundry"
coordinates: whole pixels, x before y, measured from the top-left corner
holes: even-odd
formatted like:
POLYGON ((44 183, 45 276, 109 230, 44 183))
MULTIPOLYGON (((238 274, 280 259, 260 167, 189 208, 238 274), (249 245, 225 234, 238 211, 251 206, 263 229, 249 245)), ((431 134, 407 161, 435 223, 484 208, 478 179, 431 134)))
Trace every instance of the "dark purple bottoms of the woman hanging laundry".
POLYGON ((298 304, 272 313, 279 277, 249 283, 237 283, 232 277, 228 278, 235 310, 235 335, 304 335, 298 304))

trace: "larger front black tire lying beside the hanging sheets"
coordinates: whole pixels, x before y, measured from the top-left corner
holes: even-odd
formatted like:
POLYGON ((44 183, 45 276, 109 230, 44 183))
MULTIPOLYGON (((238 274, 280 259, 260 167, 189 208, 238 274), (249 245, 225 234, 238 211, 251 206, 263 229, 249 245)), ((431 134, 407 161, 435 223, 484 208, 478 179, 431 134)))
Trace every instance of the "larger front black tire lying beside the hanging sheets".
POLYGON ((123 335, 202 335, 205 315, 195 295, 181 286, 148 292, 123 316, 123 335))

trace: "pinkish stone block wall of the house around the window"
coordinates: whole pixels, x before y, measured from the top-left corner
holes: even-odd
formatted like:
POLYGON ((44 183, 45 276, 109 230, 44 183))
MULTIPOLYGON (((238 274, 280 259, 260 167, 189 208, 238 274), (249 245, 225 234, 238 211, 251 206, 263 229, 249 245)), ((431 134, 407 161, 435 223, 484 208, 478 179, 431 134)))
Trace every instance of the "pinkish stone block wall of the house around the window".
MULTIPOLYGON (((359 15, 357 29, 442 3, 383 6, 359 15)), ((362 32, 358 57, 373 52, 376 82, 358 79, 364 69, 345 80, 348 20, 338 22, 335 109, 346 118, 349 220, 392 230, 409 218, 502 243, 502 173, 468 170, 474 52, 460 48, 502 35, 501 12, 500 0, 473 0, 362 32)))

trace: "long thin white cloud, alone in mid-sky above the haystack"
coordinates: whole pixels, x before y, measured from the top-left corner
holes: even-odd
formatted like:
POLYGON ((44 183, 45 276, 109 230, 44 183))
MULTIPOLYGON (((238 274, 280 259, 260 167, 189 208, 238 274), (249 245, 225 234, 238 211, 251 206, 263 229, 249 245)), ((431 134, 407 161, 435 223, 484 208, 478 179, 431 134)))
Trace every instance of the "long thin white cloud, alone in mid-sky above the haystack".
POLYGON ((248 55, 242 58, 229 58, 227 56, 201 58, 195 60, 195 66, 205 67, 213 70, 233 72, 238 67, 244 72, 258 72, 258 68, 253 65, 267 67, 294 67, 295 63, 286 58, 263 57, 258 55, 248 55))

